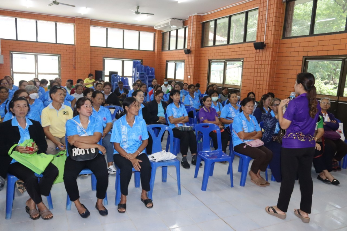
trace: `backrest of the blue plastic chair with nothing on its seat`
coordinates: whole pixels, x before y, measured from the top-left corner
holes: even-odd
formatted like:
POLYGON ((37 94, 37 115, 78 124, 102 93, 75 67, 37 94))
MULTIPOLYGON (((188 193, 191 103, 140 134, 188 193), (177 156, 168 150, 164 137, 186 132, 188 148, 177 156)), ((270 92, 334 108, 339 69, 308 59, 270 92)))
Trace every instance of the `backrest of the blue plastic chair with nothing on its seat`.
MULTIPOLYGON (((220 129, 215 124, 210 123, 202 123, 195 125, 195 133, 198 134, 199 132, 202 133, 202 150, 199 151, 211 151, 210 148, 210 132, 217 131, 217 144, 218 149, 216 151, 222 151, 222 139, 220 135, 220 129)), ((198 136, 196 135, 196 141, 198 139, 198 136)), ((199 145, 197 145, 199 147, 199 145)))

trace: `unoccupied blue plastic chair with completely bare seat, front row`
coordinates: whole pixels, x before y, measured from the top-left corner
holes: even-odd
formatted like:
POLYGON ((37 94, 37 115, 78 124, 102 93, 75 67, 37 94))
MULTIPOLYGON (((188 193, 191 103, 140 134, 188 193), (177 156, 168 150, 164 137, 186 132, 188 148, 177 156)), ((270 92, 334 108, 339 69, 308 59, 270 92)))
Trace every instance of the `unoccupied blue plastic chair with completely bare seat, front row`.
POLYGON ((204 175, 202 178, 202 186, 201 190, 206 191, 207 183, 209 180, 209 176, 213 175, 213 169, 214 169, 214 163, 215 162, 221 162, 221 161, 228 161, 229 162, 229 171, 230 173, 230 185, 231 187, 234 187, 234 182, 232 179, 232 159, 230 156, 222 152, 222 139, 220 135, 220 129, 215 124, 197 124, 195 126, 195 134, 196 134, 196 142, 198 144, 198 133, 202 133, 202 149, 199 147, 197 148, 197 159, 196 159, 196 166, 195 166, 195 175, 194 178, 197 177, 199 168, 200 168, 200 162, 201 159, 205 161, 204 166, 204 175), (217 142, 218 142, 218 149, 217 150, 211 150, 210 143, 204 142, 204 140, 209 140, 210 132, 216 130, 217 131, 217 142))

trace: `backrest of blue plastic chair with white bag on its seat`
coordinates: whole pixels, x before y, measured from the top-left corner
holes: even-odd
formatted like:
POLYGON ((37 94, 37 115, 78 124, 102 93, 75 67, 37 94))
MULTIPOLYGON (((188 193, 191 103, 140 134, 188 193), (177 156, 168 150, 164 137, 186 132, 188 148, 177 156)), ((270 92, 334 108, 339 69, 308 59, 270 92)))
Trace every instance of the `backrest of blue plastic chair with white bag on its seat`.
POLYGON ((174 133, 172 132, 172 129, 169 126, 164 124, 150 124, 150 125, 147 125, 147 131, 151 134, 152 140, 153 140, 152 153, 162 151, 161 137, 163 136, 165 131, 168 131, 170 135, 170 152, 175 154, 174 153, 174 133), (154 133, 153 128, 160 129, 158 136, 156 136, 156 134, 154 133))

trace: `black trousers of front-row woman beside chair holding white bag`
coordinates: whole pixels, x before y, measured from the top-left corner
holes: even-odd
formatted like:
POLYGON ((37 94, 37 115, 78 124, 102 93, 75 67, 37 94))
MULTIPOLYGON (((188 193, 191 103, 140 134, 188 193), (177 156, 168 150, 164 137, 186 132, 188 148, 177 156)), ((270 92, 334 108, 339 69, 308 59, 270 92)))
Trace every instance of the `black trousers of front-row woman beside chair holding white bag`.
MULTIPOLYGON (((145 191, 150 191, 150 180, 151 180, 151 163, 145 153, 138 155, 136 157, 138 160, 142 160, 139 162, 140 168, 140 178, 141 178, 141 187, 145 191)), ((128 195, 128 186, 130 183, 131 176, 133 174, 133 164, 130 160, 122 157, 120 154, 116 153, 113 155, 113 160, 115 161, 115 165, 120 169, 120 192, 127 196, 128 195)))

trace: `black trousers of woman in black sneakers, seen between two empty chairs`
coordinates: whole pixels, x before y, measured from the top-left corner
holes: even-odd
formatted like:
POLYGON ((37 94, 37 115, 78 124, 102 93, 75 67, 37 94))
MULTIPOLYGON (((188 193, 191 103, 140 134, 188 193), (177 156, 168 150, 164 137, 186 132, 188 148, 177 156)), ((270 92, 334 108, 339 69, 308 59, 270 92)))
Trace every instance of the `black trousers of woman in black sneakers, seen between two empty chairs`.
POLYGON ((174 137, 180 140, 179 150, 182 156, 187 156, 188 147, 192 154, 196 153, 196 137, 193 131, 183 132, 174 128, 172 132, 174 133, 174 137))

